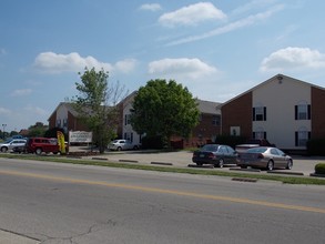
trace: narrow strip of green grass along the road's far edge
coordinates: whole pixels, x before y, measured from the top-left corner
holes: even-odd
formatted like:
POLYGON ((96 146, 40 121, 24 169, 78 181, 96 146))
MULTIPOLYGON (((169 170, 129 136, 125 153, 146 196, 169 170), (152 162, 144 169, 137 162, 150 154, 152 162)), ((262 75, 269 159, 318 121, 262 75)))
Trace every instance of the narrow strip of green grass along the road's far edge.
POLYGON ((145 171, 158 171, 158 172, 170 172, 170 173, 183 173, 183 174, 201 174, 201 175, 215 175, 215 176, 227 176, 227 177, 243 177, 243 179, 256 179, 267 181, 280 181, 285 184, 312 184, 312 185, 325 185, 325 180, 305 176, 288 176, 288 175, 267 175, 267 174, 251 174, 240 172, 224 172, 224 171, 212 171, 202 169, 190 169, 190 167, 166 167, 159 165, 143 165, 143 164, 128 164, 128 163, 115 163, 102 160, 87 160, 87 159, 69 159, 64 156, 38 156, 33 154, 0 154, 0 157, 6 159, 19 159, 19 160, 34 160, 44 162, 57 162, 57 163, 70 163, 80 165, 97 165, 97 166, 109 166, 120 169, 132 169, 132 170, 145 170, 145 171))

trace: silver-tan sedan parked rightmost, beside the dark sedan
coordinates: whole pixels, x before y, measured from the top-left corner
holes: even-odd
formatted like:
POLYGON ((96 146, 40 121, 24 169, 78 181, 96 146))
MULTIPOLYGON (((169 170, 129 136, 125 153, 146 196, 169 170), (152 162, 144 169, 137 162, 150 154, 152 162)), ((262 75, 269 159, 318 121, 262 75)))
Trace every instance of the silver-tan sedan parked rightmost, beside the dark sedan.
POLYGON ((275 167, 291 170, 293 160, 277 148, 257 146, 248 149, 238 155, 237 165, 245 169, 247 166, 262 167, 272 171, 275 167))

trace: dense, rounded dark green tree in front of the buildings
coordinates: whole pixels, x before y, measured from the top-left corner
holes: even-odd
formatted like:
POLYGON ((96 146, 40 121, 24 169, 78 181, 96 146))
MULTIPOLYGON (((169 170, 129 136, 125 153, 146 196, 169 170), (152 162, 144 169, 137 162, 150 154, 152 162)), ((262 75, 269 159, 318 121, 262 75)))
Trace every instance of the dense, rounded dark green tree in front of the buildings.
POLYGON ((148 136, 162 136, 170 146, 172 135, 189 138, 199 123, 199 109, 187 88, 174 80, 150 80, 139 89, 131 110, 132 128, 148 136))

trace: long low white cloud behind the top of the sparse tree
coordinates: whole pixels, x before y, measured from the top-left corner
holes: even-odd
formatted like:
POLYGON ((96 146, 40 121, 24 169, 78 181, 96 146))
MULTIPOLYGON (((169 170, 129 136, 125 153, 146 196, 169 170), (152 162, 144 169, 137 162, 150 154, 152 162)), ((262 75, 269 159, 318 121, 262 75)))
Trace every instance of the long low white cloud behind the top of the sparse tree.
POLYGON ((88 69, 103 69, 109 72, 130 72, 135 67, 135 60, 126 59, 116 62, 116 65, 112 65, 110 63, 100 62, 91 55, 83 58, 77 52, 71 52, 69 54, 42 52, 35 58, 33 67, 41 72, 48 73, 81 72, 85 67, 88 69))

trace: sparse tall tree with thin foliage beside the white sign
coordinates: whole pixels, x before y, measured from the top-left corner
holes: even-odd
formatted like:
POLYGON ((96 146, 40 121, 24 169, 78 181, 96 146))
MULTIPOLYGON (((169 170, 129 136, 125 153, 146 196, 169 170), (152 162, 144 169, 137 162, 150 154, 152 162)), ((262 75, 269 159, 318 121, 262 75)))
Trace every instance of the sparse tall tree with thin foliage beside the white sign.
POLYGON ((119 122, 116 103, 123 98, 124 87, 119 82, 108 82, 109 73, 103 69, 85 68, 83 74, 79 73, 81 82, 75 82, 79 95, 75 101, 75 110, 81 121, 93 132, 93 142, 103 153, 108 143, 115 138, 119 122))

